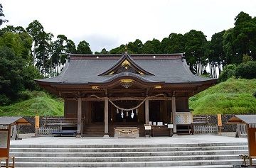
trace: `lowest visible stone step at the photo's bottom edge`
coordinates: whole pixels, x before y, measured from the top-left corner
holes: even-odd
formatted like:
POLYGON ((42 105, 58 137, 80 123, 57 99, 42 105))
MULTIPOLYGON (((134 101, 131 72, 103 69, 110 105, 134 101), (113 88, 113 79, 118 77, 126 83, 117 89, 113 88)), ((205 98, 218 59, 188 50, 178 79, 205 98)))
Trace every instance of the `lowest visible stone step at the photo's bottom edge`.
POLYGON ((158 162, 16 162, 16 167, 180 167, 199 165, 240 164, 238 159, 188 160, 158 162))

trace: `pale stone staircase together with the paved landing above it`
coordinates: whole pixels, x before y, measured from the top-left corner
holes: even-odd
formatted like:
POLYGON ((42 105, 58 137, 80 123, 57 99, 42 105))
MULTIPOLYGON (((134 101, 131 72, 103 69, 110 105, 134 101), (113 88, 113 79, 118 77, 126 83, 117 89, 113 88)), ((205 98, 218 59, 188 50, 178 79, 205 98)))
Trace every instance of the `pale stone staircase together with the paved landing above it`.
POLYGON ((178 135, 163 138, 39 137, 11 141, 16 167, 187 167, 241 164, 247 138, 178 135))

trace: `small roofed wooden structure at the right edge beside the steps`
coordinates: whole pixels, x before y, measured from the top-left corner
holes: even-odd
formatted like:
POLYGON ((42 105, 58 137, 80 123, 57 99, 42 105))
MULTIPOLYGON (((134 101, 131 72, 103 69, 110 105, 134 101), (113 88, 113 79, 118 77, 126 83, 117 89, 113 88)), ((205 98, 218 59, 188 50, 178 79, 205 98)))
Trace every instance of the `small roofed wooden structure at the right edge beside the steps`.
POLYGON ((249 158, 252 166, 252 159, 256 159, 256 115, 235 115, 228 120, 228 123, 247 125, 249 158))

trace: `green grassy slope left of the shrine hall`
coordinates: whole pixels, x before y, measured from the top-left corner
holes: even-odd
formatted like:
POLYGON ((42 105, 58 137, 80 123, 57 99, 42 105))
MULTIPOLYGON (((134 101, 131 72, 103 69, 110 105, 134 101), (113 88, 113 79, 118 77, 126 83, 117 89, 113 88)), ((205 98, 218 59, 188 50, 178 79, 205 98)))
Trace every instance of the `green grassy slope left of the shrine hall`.
POLYGON ((0 106, 0 116, 63 116, 62 99, 53 99, 43 91, 33 91, 33 97, 26 101, 0 106))

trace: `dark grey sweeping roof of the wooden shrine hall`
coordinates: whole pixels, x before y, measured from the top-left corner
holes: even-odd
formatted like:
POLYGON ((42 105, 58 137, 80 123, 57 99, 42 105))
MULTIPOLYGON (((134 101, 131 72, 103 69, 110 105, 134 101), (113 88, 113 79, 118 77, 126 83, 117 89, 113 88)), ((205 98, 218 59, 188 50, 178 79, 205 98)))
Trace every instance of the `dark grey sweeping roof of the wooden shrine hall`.
MULTIPOLYGON (((110 59, 112 56, 113 55, 101 55, 99 59, 99 57, 96 58, 94 55, 85 55, 85 57, 82 57, 82 55, 79 55, 79 57, 78 55, 71 55, 69 62, 66 63, 63 72, 58 77, 38 79, 37 81, 58 84, 87 84, 90 82, 110 82, 112 79, 124 76, 137 77, 144 82, 165 82, 169 84, 213 80, 192 74, 182 54, 154 55, 154 59, 152 55, 131 55, 136 65, 146 72, 149 72, 150 75, 133 74, 132 72, 100 75, 117 64, 119 59, 110 59), (95 57, 95 59, 92 59, 92 57, 95 57)), ((116 56, 117 55, 114 55, 114 57, 116 56)))

